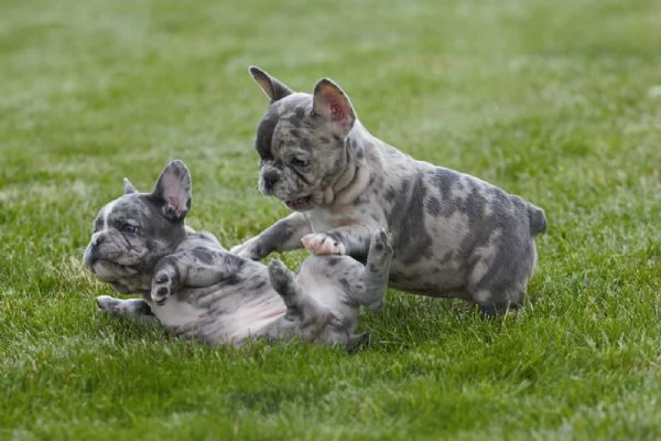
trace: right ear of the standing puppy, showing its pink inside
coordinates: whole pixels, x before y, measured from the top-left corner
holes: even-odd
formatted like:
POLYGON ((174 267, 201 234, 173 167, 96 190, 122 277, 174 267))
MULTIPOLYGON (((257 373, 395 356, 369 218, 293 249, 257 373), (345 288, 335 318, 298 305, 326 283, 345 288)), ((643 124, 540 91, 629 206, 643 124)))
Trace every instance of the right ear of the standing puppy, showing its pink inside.
POLYGON ((354 122, 356 112, 349 97, 328 78, 322 78, 314 86, 312 110, 326 118, 333 130, 346 137, 354 122))

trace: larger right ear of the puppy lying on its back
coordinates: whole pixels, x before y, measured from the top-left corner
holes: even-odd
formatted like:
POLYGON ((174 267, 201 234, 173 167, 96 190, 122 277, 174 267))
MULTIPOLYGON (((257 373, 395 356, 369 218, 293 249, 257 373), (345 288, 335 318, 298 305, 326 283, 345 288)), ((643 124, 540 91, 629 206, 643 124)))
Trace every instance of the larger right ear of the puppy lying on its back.
POLYGON ((165 217, 182 220, 191 209, 191 173, 186 165, 174 160, 161 172, 152 193, 160 203, 165 217))

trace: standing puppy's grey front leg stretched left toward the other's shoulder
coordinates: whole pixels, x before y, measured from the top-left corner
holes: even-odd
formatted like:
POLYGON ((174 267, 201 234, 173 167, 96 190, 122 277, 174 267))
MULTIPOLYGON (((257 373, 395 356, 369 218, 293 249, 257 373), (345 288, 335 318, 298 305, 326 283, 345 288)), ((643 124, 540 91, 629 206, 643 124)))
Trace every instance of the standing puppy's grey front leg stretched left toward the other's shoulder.
POLYGON ((301 238, 311 233, 310 222, 301 213, 292 213, 278 220, 259 236, 231 248, 229 252, 252 260, 260 260, 272 251, 289 251, 301 248, 301 238))

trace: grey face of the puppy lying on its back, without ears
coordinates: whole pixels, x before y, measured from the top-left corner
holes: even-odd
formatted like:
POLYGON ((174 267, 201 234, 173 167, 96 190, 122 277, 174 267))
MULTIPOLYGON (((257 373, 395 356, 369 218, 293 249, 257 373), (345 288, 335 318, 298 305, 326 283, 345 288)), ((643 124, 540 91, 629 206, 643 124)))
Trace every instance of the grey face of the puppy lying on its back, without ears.
POLYGON ((166 218, 161 205, 149 194, 132 193, 101 208, 84 255, 91 272, 119 292, 149 290, 158 259, 185 234, 183 220, 166 218))

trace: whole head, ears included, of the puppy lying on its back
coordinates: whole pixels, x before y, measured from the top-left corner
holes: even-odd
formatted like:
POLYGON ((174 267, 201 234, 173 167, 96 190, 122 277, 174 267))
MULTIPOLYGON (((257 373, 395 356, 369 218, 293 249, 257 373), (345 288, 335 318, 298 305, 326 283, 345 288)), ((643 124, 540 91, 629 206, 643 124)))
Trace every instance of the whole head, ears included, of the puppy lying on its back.
POLYGON ((85 265, 119 292, 149 291, 156 261, 185 237, 191 175, 182 161, 162 171, 152 193, 138 193, 124 179, 124 194, 104 206, 85 249, 85 265))

